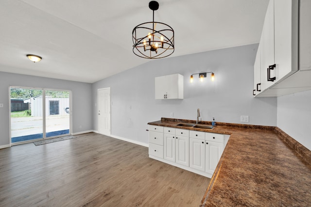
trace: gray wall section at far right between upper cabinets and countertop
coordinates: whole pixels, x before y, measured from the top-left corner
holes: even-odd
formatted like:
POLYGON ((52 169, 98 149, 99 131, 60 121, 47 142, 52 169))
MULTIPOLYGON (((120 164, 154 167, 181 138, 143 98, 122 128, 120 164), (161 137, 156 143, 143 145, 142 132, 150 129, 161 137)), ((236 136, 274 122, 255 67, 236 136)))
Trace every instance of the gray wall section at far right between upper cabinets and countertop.
POLYGON ((277 98, 277 127, 311 150, 311 90, 277 98))

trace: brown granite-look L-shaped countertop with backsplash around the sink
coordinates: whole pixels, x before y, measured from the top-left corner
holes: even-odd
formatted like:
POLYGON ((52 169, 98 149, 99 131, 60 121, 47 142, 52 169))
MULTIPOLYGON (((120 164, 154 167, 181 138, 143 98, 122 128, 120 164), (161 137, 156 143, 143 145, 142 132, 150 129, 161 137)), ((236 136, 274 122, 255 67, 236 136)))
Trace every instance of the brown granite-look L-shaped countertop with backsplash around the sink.
POLYGON ((230 134, 202 207, 311 206, 311 151, 279 128, 227 123, 217 123, 211 130, 176 126, 184 122, 195 123, 162 118, 148 124, 230 134))

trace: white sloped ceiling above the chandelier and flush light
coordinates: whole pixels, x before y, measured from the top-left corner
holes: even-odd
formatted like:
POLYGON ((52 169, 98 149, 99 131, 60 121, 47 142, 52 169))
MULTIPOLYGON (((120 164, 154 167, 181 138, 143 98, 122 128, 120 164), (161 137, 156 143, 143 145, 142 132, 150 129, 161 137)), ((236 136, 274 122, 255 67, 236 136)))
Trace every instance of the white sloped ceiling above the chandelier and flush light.
MULTIPOLYGON (((146 63, 132 30, 152 21, 149 1, 1 0, 0 71, 93 83, 146 63)), ((254 44, 268 1, 158 0, 155 21, 174 30, 170 57, 254 44)))

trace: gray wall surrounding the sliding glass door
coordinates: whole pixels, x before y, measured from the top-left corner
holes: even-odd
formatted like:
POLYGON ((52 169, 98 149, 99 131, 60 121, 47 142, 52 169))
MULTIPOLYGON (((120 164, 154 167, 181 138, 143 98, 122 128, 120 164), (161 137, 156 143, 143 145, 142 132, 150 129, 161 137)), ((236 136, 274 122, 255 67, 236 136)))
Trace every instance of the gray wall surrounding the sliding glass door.
MULTIPOLYGON (((0 66, 3 67, 3 66, 0 66)), ((68 80, 48 79, 0 72, 0 146, 9 139, 9 86, 64 89, 72 91, 72 132, 92 130, 91 84, 68 80), (82 128, 79 128, 79 126, 82 128)))

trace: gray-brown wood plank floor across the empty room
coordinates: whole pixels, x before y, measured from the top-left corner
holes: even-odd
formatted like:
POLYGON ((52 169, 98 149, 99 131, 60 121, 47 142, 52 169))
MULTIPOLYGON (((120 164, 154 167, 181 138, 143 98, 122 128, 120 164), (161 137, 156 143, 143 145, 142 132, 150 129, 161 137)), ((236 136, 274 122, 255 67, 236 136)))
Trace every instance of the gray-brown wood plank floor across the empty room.
POLYGON ((87 133, 0 149, 1 207, 198 207, 209 178, 148 158, 148 148, 87 133))

